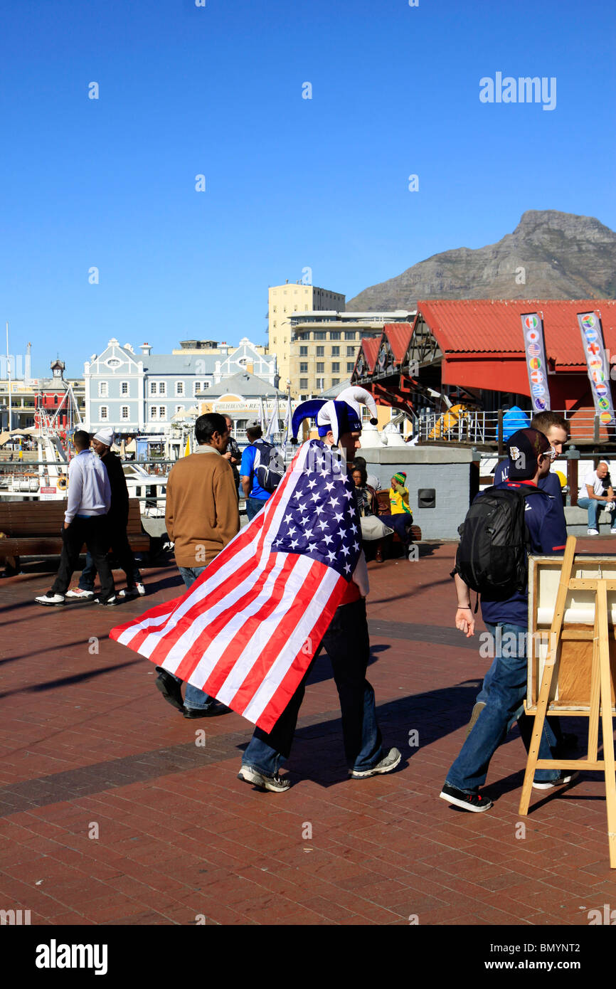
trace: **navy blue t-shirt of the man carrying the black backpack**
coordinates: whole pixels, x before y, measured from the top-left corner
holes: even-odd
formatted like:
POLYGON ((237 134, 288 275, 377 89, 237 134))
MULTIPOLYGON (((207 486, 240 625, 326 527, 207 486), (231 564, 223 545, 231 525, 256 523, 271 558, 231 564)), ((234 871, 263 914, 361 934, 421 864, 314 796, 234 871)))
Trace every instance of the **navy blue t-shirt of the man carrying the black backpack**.
MULTIPOLYGON (((558 478, 557 478, 558 481, 558 478)), ((552 556, 565 551, 567 543, 567 524, 561 495, 559 498, 536 488, 529 481, 507 481, 498 488, 524 488, 539 491, 526 499, 524 519, 528 527, 531 553, 542 556, 552 556)), ((483 493, 477 495, 481 497, 483 493)), ((505 600, 490 598, 482 594, 482 615, 485 622, 495 625, 507 622, 512 625, 528 624, 528 587, 516 590, 505 600)))

